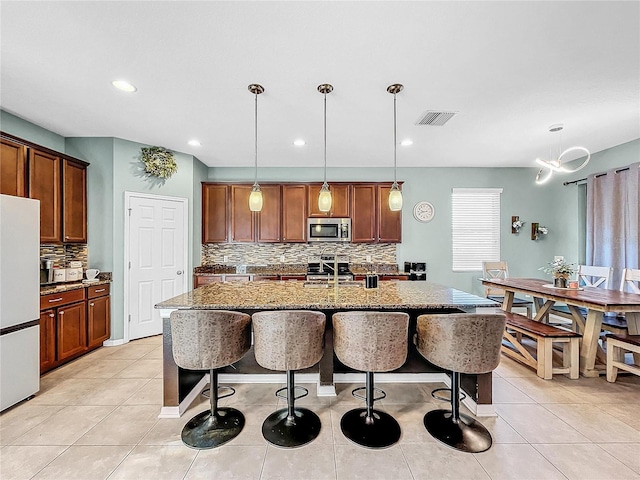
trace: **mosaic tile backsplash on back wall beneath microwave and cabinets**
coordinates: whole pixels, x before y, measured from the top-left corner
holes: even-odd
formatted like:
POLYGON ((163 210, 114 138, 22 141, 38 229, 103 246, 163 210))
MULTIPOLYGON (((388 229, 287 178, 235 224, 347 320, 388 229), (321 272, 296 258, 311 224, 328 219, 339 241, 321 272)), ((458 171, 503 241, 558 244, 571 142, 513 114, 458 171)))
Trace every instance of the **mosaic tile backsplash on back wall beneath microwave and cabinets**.
POLYGON ((396 264, 395 243, 207 243, 202 245, 201 261, 202 265, 306 264, 307 257, 321 253, 348 255, 351 263, 396 264))

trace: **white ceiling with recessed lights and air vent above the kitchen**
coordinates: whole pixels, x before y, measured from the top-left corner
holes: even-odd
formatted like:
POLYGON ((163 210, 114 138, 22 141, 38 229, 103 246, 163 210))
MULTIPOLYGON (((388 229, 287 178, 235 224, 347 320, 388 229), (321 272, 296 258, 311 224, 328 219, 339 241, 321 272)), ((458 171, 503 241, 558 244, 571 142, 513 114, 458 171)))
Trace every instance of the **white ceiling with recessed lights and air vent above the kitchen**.
POLYGON ((531 166, 640 137, 640 3, 0 2, 0 107, 65 137, 252 166, 531 166), (111 86, 125 78, 138 87, 111 86), (416 126, 427 110, 458 112, 416 126), (187 141, 197 138, 200 147, 187 141), (303 138, 304 147, 293 141, 303 138))

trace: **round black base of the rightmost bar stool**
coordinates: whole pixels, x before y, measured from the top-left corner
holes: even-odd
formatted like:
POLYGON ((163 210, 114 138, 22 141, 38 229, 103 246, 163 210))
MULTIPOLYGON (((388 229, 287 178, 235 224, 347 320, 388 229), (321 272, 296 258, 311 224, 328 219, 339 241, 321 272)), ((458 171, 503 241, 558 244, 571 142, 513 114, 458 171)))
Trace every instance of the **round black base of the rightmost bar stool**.
POLYGON ((455 422, 451 410, 431 410, 424 416, 424 426, 436 440, 462 452, 480 453, 491 448, 489 431, 468 415, 460 414, 455 422))

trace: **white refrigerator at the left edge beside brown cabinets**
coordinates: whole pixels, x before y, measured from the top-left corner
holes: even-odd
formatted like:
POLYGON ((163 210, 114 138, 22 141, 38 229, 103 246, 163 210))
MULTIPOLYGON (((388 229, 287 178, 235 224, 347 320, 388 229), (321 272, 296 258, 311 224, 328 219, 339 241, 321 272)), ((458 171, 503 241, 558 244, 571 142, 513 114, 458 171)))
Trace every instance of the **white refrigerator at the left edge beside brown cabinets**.
POLYGON ((40 389, 40 201, 0 195, 0 411, 40 389))

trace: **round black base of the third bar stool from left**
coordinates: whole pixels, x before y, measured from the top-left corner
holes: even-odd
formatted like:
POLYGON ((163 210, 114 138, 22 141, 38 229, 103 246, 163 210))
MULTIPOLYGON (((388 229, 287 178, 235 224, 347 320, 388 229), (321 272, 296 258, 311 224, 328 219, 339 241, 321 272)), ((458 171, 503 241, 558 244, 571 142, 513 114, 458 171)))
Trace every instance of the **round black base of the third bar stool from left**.
POLYGON ((368 448, 390 447, 400 440, 400 424, 391 415, 373 410, 367 418, 366 408, 349 410, 340 420, 342 433, 354 443, 368 448))

